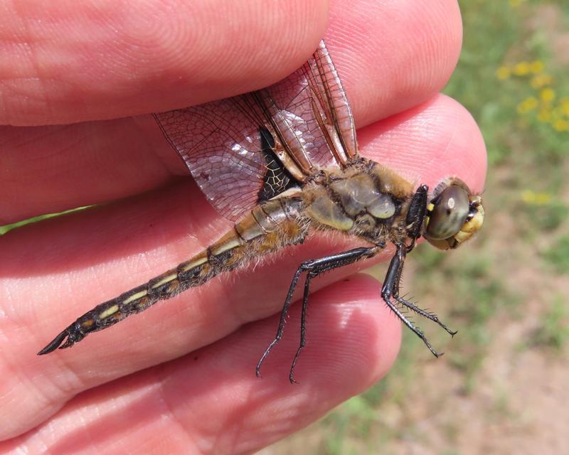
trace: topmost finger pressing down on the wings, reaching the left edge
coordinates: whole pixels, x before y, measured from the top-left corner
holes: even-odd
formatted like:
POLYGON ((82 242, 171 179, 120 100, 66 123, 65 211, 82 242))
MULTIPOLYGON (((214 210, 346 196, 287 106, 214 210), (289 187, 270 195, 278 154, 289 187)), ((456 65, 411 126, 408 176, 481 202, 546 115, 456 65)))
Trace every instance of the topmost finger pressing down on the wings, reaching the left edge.
POLYGON ((17 5, 3 14, 11 65, 0 124, 126 117, 248 92, 298 68, 327 20, 325 0, 17 5))

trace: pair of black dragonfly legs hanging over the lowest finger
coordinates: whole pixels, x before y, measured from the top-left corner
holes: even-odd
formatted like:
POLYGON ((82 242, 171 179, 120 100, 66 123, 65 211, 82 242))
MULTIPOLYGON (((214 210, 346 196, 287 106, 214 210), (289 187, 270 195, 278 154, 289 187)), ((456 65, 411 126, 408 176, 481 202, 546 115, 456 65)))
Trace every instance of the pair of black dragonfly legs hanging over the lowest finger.
POLYGON ((260 368, 269 355, 270 351, 276 346, 276 344, 282 338, 282 333, 285 331, 285 323, 287 320, 287 313, 292 303, 292 294, 294 294, 294 289, 297 287, 298 280, 302 273, 307 272, 307 279, 304 282, 304 296, 302 298, 302 316, 301 316, 301 327, 300 327, 300 344, 297 353, 294 355, 294 360, 290 368, 289 380, 290 382, 296 382, 294 380, 294 366, 297 363, 297 359, 302 351, 302 348, 306 345, 306 316, 307 316, 307 306, 308 306, 308 296, 310 281, 312 278, 317 277, 319 274, 328 272, 331 269, 337 269, 338 267, 344 267, 344 265, 352 264, 360 259, 367 259, 376 255, 379 247, 361 247, 355 248, 353 250, 338 253, 336 255, 330 255, 321 257, 320 259, 310 259, 308 261, 302 262, 297 272, 292 278, 292 282, 289 286, 289 291, 287 293, 287 299, 285 299, 285 305, 282 307, 279 326, 277 328, 277 335, 275 339, 270 343, 265 352, 262 354, 259 363, 257 363, 257 368, 255 373, 260 377, 260 368))

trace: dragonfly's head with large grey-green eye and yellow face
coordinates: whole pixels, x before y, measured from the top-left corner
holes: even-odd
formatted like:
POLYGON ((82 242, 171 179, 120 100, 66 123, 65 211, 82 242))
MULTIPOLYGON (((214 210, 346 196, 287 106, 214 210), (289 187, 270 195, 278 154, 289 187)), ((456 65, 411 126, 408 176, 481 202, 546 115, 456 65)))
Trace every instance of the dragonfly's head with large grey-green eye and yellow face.
POLYGON ((482 198, 456 177, 437 185, 427 205, 423 236, 440 250, 459 247, 484 223, 482 198))

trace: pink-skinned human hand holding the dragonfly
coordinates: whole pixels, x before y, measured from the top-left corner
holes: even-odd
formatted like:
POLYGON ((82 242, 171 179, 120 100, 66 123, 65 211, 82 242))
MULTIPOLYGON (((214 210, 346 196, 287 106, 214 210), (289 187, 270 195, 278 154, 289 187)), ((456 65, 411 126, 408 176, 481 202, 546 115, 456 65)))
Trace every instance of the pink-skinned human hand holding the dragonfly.
POLYGON ((2 453, 248 453, 366 390, 395 360, 400 323, 374 279, 342 280, 356 265, 314 280, 299 384, 288 382, 297 306, 255 377, 294 270, 353 247, 336 237, 314 237, 72 349, 36 355, 80 314, 230 225, 149 112, 275 82, 324 35, 363 156, 417 184, 454 174, 482 191, 482 136, 463 107, 438 95, 460 50, 455 1, 190 3, 125 11, 118 2, 17 2, 1 18, 9 65, 0 80, 0 224, 105 203, 0 237, 2 453))

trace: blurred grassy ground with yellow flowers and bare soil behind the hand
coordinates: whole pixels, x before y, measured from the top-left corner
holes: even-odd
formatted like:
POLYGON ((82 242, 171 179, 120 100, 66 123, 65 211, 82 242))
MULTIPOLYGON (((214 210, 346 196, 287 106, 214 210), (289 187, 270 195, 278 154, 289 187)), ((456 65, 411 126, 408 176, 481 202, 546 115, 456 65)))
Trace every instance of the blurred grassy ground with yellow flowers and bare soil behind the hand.
MULTIPOLYGON (((482 235, 422 245, 405 283, 458 328, 405 331, 389 375, 263 454, 566 453, 569 428, 569 1, 463 0, 445 92, 489 154, 482 235)), ((385 266, 371 271, 379 278, 385 266)))

